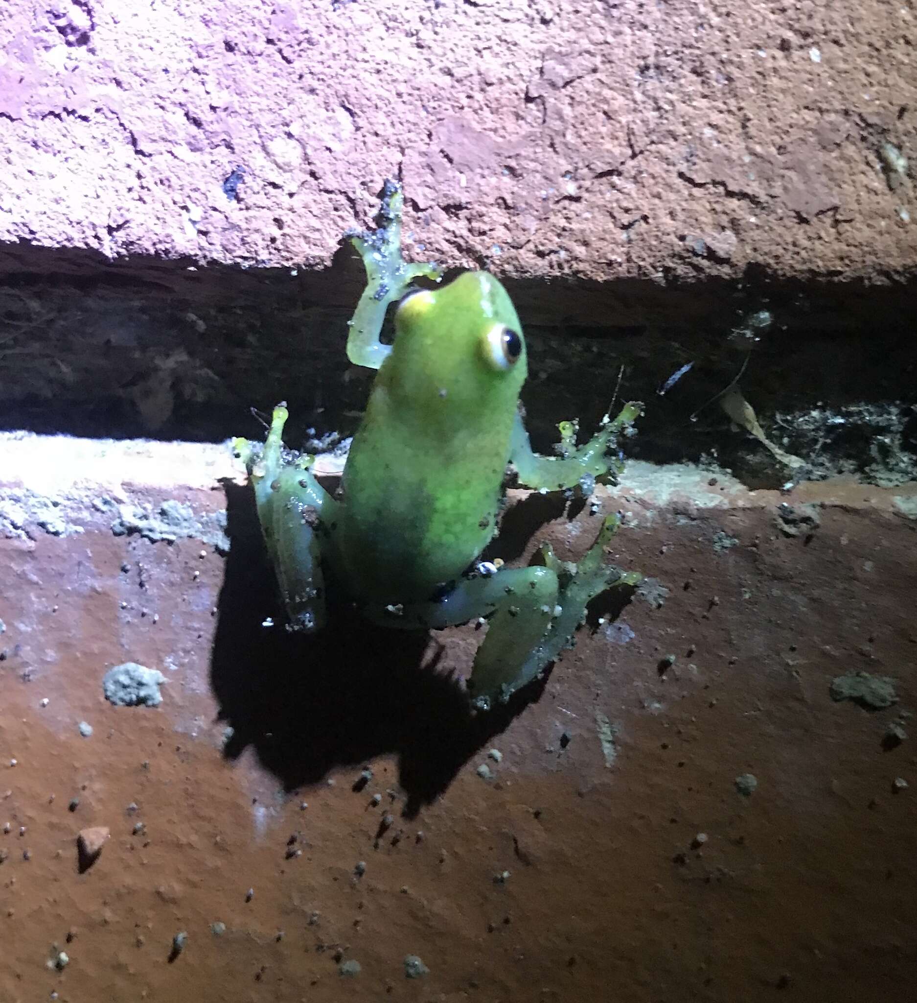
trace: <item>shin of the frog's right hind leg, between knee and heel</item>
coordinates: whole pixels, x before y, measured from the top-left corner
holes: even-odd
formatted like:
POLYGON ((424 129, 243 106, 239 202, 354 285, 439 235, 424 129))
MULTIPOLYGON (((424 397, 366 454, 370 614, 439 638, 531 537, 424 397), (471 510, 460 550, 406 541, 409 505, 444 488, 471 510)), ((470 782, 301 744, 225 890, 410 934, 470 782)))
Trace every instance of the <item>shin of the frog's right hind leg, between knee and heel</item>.
POLYGON ((473 697, 492 704, 535 675, 526 670, 554 616, 557 575, 550 568, 519 568, 464 585, 493 611, 468 681, 473 697))

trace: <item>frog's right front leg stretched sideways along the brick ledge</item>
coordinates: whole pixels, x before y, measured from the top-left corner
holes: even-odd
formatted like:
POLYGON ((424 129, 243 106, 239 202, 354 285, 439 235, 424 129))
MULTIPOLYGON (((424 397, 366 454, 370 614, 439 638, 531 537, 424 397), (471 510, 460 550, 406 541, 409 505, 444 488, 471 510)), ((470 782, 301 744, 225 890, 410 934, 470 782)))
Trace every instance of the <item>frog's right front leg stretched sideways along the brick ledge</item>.
POLYGON ((622 464, 616 456, 609 455, 609 450, 615 448, 618 435, 626 434, 641 409, 642 404, 630 401, 624 404, 613 420, 606 414, 599 430, 578 448, 575 444, 575 423, 561 422, 558 456, 542 456, 532 449, 522 415, 517 412, 510 441, 509 461, 521 483, 528 487, 556 491, 578 484, 588 496, 592 493, 596 477, 609 471, 620 473, 622 464))

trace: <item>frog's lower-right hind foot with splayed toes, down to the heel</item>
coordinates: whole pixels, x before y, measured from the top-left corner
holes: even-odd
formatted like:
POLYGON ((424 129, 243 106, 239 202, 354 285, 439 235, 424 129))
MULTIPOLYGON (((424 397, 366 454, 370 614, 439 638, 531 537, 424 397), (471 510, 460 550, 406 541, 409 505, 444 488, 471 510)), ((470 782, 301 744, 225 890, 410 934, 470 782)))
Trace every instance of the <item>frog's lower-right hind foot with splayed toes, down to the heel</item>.
MULTIPOLYGON (((619 522, 617 516, 604 520, 598 539, 578 564, 559 561, 546 545, 538 555, 542 567, 524 569, 529 574, 540 570, 553 580, 553 596, 545 599, 548 608, 540 609, 542 617, 546 615, 546 623, 542 621, 545 629, 529 645, 528 636, 523 640, 517 621, 491 619, 468 683, 478 707, 486 709, 498 702, 505 703, 516 690, 539 677, 564 648, 572 645, 576 628, 585 622, 586 605, 592 599, 606 589, 632 589, 640 582, 638 573, 623 572, 603 563, 604 547, 619 522)), ((547 597, 546 587, 542 586, 542 591, 547 597)))

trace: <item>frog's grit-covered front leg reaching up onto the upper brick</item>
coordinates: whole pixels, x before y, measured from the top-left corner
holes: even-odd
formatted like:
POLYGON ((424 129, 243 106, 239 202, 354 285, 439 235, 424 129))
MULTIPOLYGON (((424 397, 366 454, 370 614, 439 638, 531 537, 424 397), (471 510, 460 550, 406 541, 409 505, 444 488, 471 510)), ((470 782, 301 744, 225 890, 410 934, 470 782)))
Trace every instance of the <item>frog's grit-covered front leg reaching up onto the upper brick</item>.
POLYGON ((389 306, 404 296, 415 279, 425 276, 438 282, 443 276, 443 270, 432 262, 412 265, 401 256, 403 204, 401 186, 387 180, 378 229, 346 234, 360 252, 367 279, 347 339, 347 357, 354 365, 378 369, 392 350, 379 340, 389 306))

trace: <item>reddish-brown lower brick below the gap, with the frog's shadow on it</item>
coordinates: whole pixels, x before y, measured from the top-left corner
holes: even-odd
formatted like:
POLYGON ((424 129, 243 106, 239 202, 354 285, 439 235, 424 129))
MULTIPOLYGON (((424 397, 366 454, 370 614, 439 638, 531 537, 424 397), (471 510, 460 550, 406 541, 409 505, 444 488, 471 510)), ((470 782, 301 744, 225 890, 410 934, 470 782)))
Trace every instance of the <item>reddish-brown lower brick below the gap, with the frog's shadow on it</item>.
MULTIPOLYGON (((473 629, 429 644, 359 621, 312 642, 283 629, 248 489, 207 480, 232 477, 227 453, 71 443, 84 477, 104 471, 93 484, 62 441, 29 444, 48 466, 33 500, 67 528, 32 512, 0 535, 3 1000, 339 1003, 342 960, 361 965, 346 998, 367 1003, 390 986, 519 1003, 909 998, 913 488, 781 496, 633 464, 598 498, 627 513, 613 559, 649 588, 593 619, 533 702, 482 725, 452 675, 473 629), (194 486, 169 482, 183 469, 194 486), (233 548, 116 536, 100 495, 201 520, 228 499, 233 548), (788 535, 781 501, 820 506, 820 525, 788 535), (104 699, 105 670, 128 659, 166 675, 158 707, 104 699), (899 702, 834 702, 832 679, 859 670, 894 679, 899 702), (892 725, 911 735, 888 745, 892 725), (99 825, 110 840, 80 875, 74 841, 99 825), (66 971, 46 968, 63 948, 66 971)), ((0 499, 23 490, 7 481, 0 499)), ((595 532, 588 510, 514 497, 507 558, 545 536, 577 556, 595 532)))

